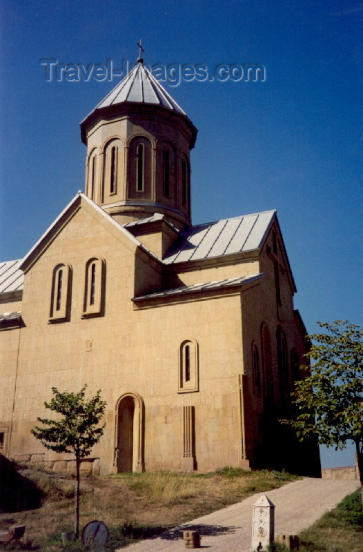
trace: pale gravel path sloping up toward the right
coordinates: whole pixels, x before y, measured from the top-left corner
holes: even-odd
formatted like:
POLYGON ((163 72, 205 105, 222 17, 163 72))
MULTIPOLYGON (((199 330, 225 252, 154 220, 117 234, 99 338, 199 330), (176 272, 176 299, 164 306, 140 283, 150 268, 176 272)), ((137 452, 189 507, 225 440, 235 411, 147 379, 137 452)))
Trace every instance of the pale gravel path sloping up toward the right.
MULTIPOLYGON (((357 480, 331 481, 306 477, 266 492, 275 504, 275 535, 296 534, 306 529, 358 486, 357 480)), ((242 502, 198 517, 166 531, 161 537, 132 544, 127 550, 181 552, 186 550, 182 531, 197 529, 202 536, 201 548, 208 548, 210 552, 251 552, 252 504, 262 494, 257 493, 242 502)))

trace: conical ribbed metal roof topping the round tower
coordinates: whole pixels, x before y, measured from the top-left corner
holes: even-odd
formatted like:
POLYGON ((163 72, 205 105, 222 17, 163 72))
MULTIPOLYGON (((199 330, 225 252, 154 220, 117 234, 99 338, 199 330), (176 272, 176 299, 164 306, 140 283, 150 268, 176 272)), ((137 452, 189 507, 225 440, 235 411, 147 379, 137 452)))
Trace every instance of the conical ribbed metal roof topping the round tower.
POLYGON ((184 110, 166 92, 165 88, 153 77, 150 71, 142 63, 137 63, 137 66, 99 102, 84 121, 98 109, 124 102, 150 103, 186 115, 184 110))

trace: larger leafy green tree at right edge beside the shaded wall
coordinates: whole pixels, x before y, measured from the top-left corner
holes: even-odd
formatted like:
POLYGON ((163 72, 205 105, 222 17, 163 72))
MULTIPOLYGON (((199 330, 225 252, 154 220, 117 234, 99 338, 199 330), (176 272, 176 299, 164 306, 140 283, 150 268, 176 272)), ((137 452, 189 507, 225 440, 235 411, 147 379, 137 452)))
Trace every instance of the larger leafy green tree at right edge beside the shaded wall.
POLYGON ((317 324, 326 333, 308 336, 314 362, 295 383, 296 419, 282 422, 300 441, 317 437, 335 449, 355 443, 363 504, 363 327, 345 320, 317 324))

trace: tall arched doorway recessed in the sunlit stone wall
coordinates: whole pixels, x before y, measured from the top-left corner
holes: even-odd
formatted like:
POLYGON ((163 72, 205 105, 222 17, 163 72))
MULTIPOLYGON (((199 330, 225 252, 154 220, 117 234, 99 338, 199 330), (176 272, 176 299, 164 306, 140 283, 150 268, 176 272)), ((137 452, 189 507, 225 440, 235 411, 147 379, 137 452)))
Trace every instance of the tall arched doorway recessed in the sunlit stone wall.
POLYGON ((117 401, 114 467, 116 473, 144 471, 144 402, 134 393, 117 401))

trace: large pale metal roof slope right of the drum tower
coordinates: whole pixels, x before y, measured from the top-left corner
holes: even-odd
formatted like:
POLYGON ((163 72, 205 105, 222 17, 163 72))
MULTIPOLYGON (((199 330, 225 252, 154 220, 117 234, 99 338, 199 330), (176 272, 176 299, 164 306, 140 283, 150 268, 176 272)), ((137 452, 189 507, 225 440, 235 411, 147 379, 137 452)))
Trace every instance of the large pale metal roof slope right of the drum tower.
POLYGON ((164 263, 209 259, 259 249, 275 210, 191 226, 166 252, 164 263))

